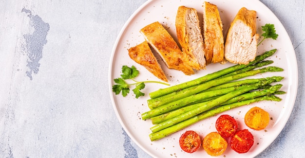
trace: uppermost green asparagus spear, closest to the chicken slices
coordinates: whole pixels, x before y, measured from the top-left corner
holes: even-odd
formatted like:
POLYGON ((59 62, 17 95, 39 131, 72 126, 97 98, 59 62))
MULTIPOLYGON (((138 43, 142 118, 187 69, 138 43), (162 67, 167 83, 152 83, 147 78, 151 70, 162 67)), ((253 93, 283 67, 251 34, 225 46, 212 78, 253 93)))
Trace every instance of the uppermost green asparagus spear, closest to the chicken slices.
POLYGON ((175 85, 175 86, 172 86, 172 87, 169 87, 169 88, 156 90, 154 92, 151 92, 149 95, 150 95, 151 98, 157 98, 157 97, 160 97, 160 96, 163 96, 163 95, 166 95, 166 94, 170 94, 174 91, 178 91, 178 90, 181 90, 181 89, 184 89, 184 88, 189 88, 189 87, 204 83, 206 81, 210 81, 212 79, 215 79, 215 78, 220 77, 222 75, 228 74, 230 72, 240 70, 240 69, 246 68, 247 66, 250 66, 252 64, 261 62, 264 59, 266 59, 267 57, 272 56, 276 51, 277 50, 274 49, 274 50, 271 50, 271 51, 267 51, 262 55, 258 55, 258 56, 256 56, 255 60, 250 62, 248 65, 243 65, 243 64, 242 65, 234 65, 234 66, 231 66, 229 68, 207 74, 205 76, 199 77, 197 79, 194 79, 194 80, 191 80, 191 81, 179 84, 179 85, 175 85))

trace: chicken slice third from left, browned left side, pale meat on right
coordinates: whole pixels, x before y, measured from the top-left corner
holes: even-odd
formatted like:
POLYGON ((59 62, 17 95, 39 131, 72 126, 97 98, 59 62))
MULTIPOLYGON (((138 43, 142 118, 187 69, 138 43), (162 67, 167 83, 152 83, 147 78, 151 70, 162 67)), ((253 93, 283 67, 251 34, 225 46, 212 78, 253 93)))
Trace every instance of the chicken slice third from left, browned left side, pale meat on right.
POLYGON ((175 25, 178 41, 189 65, 196 70, 205 69, 203 38, 196 9, 180 6, 175 25))

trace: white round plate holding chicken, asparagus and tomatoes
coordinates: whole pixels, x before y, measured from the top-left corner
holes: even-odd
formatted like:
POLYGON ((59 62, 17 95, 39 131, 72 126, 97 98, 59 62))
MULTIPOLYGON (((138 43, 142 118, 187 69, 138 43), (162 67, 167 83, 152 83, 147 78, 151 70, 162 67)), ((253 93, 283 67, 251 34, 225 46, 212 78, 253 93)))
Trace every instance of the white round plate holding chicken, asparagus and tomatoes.
MULTIPOLYGON (((121 68, 123 65, 127 65, 129 67, 134 65, 137 70, 139 70, 139 75, 136 77, 136 80, 160 81, 144 67, 130 59, 128 55, 128 49, 137 44, 140 44, 145 40, 144 37, 139 33, 140 29, 155 21, 159 21, 161 24, 163 24, 163 26, 169 31, 172 37, 177 41, 174 24, 178 7, 184 5, 187 7, 195 8, 198 12, 199 18, 202 18, 203 2, 204 0, 148 0, 145 4, 137 9, 131 18, 129 18, 114 44, 109 68, 109 90, 111 93, 110 96, 114 106, 114 111, 118 120, 130 138, 139 147, 141 147, 145 152, 154 158, 209 157, 209 155, 204 151, 202 147, 197 152, 192 154, 182 151, 179 146, 179 137, 186 130, 194 130, 198 132, 201 138, 204 138, 208 133, 216 131, 215 122, 219 115, 193 124, 164 139, 152 142, 149 138, 149 134, 151 133, 150 128, 153 125, 150 120, 142 120, 141 114, 149 110, 147 106, 147 100, 150 99, 149 93, 159 88, 166 88, 167 86, 148 83, 142 90, 145 93, 145 96, 139 97, 139 99, 135 99, 135 95, 133 94, 132 90, 126 97, 122 97, 121 94, 115 95, 114 92, 112 92, 114 79, 120 77, 121 68)), ((275 138, 284 128, 292 111, 298 87, 298 68, 294 49, 282 23, 259 0, 210 0, 209 2, 218 6, 220 17, 224 24, 223 26, 225 35, 229 29, 230 22, 233 20, 238 10, 242 7, 246 7, 249 10, 255 10, 257 12, 258 34, 262 34, 261 26, 265 25, 266 23, 271 23, 275 25, 276 33, 279 35, 277 40, 267 39, 263 42, 263 44, 259 45, 257 54, 262 54, 271 49, 277 49, 277 52, 273 56, 267 58, 267 60, 274 61, 274 63, 270 66, 281 67, 284 69, 284 71, 267 72, 248 78, 284 76, 285 79, 280 83, 284 85, 281 90, 286 91, 286 94, 279 95, 279 97, 283 100, 281 102, 264 101, 253 103, 251 105, 245 105, 222 113, 233 116, 239 125, 239 129, 249 129, 245 125, 243 119, 246 112, 251 107, 259 106, 269 112, 272 120, 270 120, 266 130, 254 131, 249 129, 249 131, 254 136, 254 145, 248 151, 248 153, 238 154, 231 150, 228 146, 225 153, 220 156, 226 156, 227 158, 255 157, 264 149, 266 149, 273 140, 275 140, 275 138)), ((171 86, 190 81, 208 73, 212 73, 216 70, 221 70, 233 65, 229 62, 224 65, 218 63, 210 64, 207 66, 206 70, 199 70, 196 71, 194 75, 186 76, 181 71, 169 70, 163 62, 160 62, 160 64, 165 71, 171 86)), ((131 83, 131 81, 127 82, 131 83)), ((133 87, 131 87, 131 89, 133 89, 133 87)))

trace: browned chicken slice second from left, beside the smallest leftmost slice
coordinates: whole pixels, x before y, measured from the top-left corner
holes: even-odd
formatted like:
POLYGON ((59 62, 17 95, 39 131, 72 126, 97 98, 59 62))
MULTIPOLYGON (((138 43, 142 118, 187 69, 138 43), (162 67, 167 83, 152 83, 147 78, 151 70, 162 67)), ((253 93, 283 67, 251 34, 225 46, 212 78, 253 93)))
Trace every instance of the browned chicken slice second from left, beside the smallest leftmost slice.
POLYGON ((161 56, 169 69, 181 70, 186 75, 194 74, 183 53, 170 33, 158 21, 140 30, 146 41, 161 56))

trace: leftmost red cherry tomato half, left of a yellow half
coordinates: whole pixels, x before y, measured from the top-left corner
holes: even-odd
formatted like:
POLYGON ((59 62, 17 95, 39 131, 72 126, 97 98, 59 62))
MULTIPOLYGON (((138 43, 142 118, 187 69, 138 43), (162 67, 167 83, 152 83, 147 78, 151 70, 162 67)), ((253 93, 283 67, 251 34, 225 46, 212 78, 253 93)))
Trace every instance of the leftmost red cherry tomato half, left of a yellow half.
POLYGON ((186 131, 179 139, 180 147, 187 153, 193 153, 201 146, 201 139, 195 131, 186 131))

